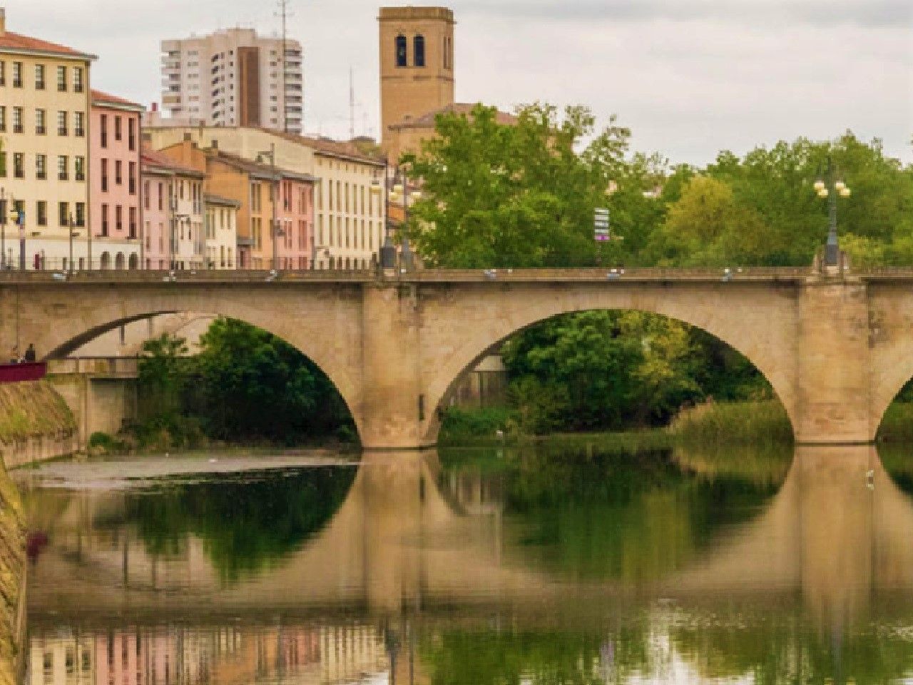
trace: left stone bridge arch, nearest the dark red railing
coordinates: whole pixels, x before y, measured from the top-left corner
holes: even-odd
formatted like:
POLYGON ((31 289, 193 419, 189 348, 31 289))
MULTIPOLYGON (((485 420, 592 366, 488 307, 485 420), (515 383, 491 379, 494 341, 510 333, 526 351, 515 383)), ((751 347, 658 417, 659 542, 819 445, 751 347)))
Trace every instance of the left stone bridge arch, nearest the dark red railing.
POLYGON ((205 289, 172 290, 164 286, 147 286, 146 290, 144 296, 133 293, 119 297, 116 289, 105 287, 107 296, 87 297, 90 305, 42 302, 38 306, 47 321, 53 322, 28 326, 23 340, 34 342, 42 358, 55 359, 122 325, 162 314, 193 311, 245 321, 288 342, 316 364, 336 386, 362 435, 360 332, 357 327, 334 325, 360 316, 357 287, 352 292, 332 289, 332 294, 318 290, 307 298, 297 290, 254 284, 215 295, 205 289))

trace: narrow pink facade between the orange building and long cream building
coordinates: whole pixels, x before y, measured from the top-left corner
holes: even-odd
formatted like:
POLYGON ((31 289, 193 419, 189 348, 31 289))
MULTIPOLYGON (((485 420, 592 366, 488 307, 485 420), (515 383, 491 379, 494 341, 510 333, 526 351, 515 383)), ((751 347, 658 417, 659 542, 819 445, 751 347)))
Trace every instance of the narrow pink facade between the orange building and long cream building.
POLYGON ((284 174, 279 182, 280 269, 311 269, 314 248, 314 184, 307 174, 284 174))

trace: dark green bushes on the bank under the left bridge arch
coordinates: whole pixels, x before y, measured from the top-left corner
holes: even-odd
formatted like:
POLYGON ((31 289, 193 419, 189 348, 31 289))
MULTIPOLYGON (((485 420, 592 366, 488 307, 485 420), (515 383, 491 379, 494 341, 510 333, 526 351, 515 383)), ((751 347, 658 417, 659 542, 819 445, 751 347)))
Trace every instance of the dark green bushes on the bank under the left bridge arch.
POLYGON ((140 420, 130 432, 140 449, 357 440, 326 374, 288 342, 243 321, 216 319, 193 356, 181 338, 145 342, 138 383, 140 420))

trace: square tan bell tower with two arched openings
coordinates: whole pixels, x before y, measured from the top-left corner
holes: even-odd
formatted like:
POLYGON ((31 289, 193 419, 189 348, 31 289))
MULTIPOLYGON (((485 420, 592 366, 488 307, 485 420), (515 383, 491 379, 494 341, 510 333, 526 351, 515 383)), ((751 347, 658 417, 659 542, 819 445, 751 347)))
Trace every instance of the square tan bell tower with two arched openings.
POLYGON ((381 7, 381 142, 390 127, 454 103, 454 13, 381 7))

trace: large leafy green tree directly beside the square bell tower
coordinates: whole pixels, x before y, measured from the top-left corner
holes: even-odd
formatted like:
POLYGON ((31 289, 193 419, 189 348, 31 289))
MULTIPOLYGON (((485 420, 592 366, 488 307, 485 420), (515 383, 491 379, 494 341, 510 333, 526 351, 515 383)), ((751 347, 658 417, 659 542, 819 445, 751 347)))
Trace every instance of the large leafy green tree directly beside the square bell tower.
POLYGON ((593 209, 624 167, 630 132, 595 130, 593 114, 546 104, 516 121, 494 108, 440 114, 423 153, 404 155, 423 181, 407 230, 428 265, 443 268, 593 264, 593 209), (582 152, 582 141, 592 138, 582 152))

